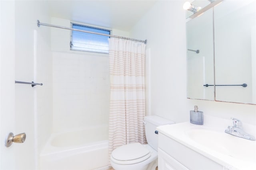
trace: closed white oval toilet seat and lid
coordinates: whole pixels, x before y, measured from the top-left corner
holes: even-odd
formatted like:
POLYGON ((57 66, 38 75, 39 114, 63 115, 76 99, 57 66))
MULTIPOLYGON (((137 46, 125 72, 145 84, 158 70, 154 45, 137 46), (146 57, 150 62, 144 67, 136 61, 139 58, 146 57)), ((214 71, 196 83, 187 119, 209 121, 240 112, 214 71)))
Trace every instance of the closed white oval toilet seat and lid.
POLYGON ((148 159, 151 152, 140 143, 123 145, 113 150, 111 160, 116 164, 136 164, 148 159))

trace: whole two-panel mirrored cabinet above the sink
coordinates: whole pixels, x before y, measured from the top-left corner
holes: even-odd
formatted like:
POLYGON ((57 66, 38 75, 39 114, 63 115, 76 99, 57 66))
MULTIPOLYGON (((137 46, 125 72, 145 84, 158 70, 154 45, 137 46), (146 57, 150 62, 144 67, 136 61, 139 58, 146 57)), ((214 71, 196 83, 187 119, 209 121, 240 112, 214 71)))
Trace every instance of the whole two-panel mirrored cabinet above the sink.
POLYGON ((255 0, 224 0, 186 29, 187 97, 256 104, 255 0))

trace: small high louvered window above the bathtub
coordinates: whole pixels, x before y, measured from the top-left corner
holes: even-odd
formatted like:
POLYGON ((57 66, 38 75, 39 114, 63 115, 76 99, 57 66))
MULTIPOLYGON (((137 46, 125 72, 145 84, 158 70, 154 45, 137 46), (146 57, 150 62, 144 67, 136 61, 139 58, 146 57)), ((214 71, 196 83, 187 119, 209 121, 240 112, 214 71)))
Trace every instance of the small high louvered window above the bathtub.
MULTIPOLYGON (((75 23, 71 24, 72 28, 74 29, 110 35, 110 30, 108 29, 91 27, 87 25, 79 25, 75 23)), ((93 33, 85 33, 81 31, 72 30, 70 49, 97 53, 108 53, 108 38, 109 36, 106 35, 98 35, 93 33)))

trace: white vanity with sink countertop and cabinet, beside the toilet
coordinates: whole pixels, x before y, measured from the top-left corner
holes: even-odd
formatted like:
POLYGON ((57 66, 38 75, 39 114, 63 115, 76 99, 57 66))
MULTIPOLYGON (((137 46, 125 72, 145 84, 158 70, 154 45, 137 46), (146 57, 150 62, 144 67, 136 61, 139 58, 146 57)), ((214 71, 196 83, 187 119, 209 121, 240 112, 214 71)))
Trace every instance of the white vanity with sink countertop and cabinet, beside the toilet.
MULTIPOLYGON (((204 125, 190 122, 158 130, 159 170, 255 170, 256 141, 225 133, 232 120, 205 115, 204 125)), ((254 125, 243 124, 255 136, 254 125)))

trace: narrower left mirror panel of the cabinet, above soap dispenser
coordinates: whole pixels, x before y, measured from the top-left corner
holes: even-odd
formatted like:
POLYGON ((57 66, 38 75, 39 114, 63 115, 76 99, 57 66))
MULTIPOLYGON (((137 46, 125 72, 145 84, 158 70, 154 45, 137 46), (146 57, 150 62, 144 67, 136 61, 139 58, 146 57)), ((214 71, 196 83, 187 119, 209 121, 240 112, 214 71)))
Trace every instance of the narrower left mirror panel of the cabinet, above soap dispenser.
POLYGON ((187 97, 214 100, 213 9, 186 23, 187 97), (198 50, 198 52, 196 52, 198 50))

